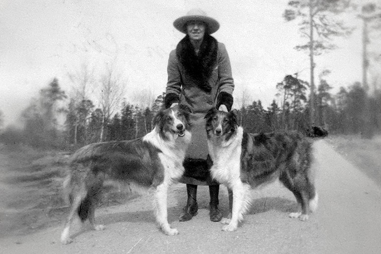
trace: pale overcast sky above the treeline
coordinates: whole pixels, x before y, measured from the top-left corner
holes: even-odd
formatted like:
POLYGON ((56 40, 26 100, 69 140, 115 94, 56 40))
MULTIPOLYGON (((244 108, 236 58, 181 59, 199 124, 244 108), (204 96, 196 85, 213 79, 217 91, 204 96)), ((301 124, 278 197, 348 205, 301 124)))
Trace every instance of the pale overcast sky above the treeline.
MULTIPOLYGON (((265 107, 286 74, 300 72, 309 81, 307 53, 298 22, 285 22, 288 0, 1 0, 0 110, 13 123, 31 97, 57 77, 70 94, 68 72, 82 64, 97 76, 115 62, 127 84, 125 97, 153 98, 165 91, 169 53, 184 34, 173 21, 200 7, 220 22, 213 36, 226 45, 236 90, 265 107)), ((361 24, 348 16, 350 24, 361 24)), ((316 76, 325 68, 335 89, 361 81, 361 26, 339 49, 317 57, 316 76)), ((380 45, 381 46, 381 45, 380 45)), ((238 105, 239 99, 235 102, 238 105)))

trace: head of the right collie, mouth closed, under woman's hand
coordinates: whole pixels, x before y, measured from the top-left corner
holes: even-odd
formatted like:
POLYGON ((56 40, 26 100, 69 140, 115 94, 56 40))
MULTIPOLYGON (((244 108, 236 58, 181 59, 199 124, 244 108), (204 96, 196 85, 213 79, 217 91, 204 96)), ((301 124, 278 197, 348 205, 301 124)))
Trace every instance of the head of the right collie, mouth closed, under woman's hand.
POLYGON ((221 137, 229 140, 236 133, 238 127, 236 110, 223 112, 211 109, 206 113, 205 119, 208 138, 221 137))

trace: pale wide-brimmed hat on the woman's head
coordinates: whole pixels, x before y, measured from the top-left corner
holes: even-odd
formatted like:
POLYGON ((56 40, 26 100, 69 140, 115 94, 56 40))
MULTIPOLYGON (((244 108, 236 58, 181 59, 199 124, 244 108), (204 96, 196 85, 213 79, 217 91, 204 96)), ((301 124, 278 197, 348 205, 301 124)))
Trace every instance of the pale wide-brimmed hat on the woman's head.
POLYGON ((201 9, 191 9, 187 15, 177 18, 173 25, 182 33, 187 33, 187 23, 190 21, 202 21, 207 25, 207 33, 212 34, 220 28, 220 24, 214 18, 206 15, 205 11, 201 9))

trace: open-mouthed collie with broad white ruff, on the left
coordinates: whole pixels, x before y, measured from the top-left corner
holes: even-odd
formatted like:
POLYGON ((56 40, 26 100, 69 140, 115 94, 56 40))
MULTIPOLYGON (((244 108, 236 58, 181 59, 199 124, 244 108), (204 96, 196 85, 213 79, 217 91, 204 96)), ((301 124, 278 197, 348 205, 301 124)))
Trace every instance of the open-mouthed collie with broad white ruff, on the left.
POLYGON ((190 109, 184 105, 160 111, 154 129, 141 138, 89 144, 71 157, 70 174, 64 189, 70 203, 61 242, 72 242, 70 224, 74 216, 87 219, 95 230, 103 225, 94 222, 94 210, 103 183, 133 183, 154 191, 156 221, 166 235, 177 235, 167 219, 167 191, 184 173, 183 161, 191 142, 190 109))

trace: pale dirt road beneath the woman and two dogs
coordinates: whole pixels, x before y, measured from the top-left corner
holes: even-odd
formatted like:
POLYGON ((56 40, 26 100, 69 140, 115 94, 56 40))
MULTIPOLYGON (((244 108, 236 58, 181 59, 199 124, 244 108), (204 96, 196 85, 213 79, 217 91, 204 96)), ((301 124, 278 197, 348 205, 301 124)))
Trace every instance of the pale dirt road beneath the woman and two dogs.
MULTIPOLYGON (((156 228, 150 198, 101 208, 96 218, 105 231, 75 229, 74 242, 62 246, 61 227, 0 239, 0 253, 251 253, 251 254, 377 254, 381 253, 381 189, 337 154, 325 141, 315 143, 318 211, 307 222, 290 219, 296 208, 290 191, 273 184, 255 194, 245 222, 233 233, 209 221, 208 190, 199 187, 199 213, 179 222, 185 204, 184 185, 169 194, 169 221, 178 236, 165 236, 156 228)), ((227 191, 220 189, 220 207, 228 210, 227 191)))

